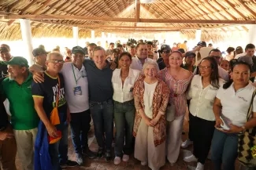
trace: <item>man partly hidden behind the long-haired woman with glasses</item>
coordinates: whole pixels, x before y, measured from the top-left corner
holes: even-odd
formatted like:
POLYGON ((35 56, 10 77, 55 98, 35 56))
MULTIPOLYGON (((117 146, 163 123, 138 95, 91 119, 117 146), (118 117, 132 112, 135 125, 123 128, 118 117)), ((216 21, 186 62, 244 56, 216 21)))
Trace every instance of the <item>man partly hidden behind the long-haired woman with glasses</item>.
MULTIPOLYGON (((221 51, 219 49, 212 49, 209 53, 210 57, 214 57, 217 60, 217 63, 220 64, 221 62, 221 51)), ((224 81, 229 80, 228 72, 225 71, 223 68, 218 67, 219 76, 224 79, 224 81)), ((194 74, 198 74, 198 67, 195 69, 194 74)))

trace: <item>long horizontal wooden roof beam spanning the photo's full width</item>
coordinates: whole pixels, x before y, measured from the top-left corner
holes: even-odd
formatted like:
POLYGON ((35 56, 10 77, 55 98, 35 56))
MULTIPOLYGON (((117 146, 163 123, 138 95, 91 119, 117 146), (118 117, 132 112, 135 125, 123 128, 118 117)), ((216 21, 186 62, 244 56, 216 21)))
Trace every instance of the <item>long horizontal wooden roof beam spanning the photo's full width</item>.
MULTIPOLYGON (((65 16, 65 15, 2 15, 2 19, 17 20, 92 20, 112 22, 136 22, 135 18, 111 18, 98 16, 65 16)), ((170 20, 170 19, 139 19, 141 23, 177 23, 177 24, 256 24, 256 20, 170 20)))

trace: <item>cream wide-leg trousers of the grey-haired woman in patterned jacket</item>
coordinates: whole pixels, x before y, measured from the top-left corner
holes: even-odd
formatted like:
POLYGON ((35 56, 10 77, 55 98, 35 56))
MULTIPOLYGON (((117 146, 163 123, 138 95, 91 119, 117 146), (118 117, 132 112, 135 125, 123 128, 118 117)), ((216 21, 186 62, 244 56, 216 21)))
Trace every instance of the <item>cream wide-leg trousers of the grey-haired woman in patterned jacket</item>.
POLYGON ((153 127, 147 126, 143 119, 135 137, 134 157, 139 161, 147 161, 153 170, 165 165, 165 142, 154 146, 153 127))

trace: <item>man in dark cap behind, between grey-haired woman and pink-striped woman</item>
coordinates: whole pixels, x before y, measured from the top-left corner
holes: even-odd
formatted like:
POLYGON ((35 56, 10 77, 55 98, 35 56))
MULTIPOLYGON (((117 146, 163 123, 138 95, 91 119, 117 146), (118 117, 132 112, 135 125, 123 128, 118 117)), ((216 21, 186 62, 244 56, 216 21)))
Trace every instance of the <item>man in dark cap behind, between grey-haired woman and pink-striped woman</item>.
POLYGON ((160 49, 161 57, 158 59, 158 67, 160 70, 169 66, 169 56, 171 52, 172 50, 169 45, 161 45, 161 49, 160 49))

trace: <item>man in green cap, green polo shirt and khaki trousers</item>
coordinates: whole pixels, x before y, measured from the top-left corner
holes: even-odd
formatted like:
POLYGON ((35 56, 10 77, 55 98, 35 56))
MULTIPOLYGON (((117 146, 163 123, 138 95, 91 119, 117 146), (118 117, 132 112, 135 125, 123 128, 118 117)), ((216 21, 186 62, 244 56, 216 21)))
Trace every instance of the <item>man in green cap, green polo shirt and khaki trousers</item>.
POLYGON ((5 62, 9 78, 2 81, 3 95, 9 99, 12 114, 11 124, 17 141, 17 154, 22 169, 34 168, 34 143, 39 118, 32 98, 32 74, 28 71, 28 60, 17 56, 5 62))

